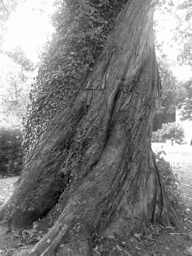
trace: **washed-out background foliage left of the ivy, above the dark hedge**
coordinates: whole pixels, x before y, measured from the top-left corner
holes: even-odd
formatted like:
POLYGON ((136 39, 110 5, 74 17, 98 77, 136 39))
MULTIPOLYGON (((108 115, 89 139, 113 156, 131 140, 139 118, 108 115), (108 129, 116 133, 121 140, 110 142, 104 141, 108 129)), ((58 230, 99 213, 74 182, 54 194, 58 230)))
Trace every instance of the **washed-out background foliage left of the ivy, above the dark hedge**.
POLYGON ((23 116, 26 115, 33 73, 14 63, 7 56, 4 58, 5 62, 9 60, 12 68, 8 66, 1 70, 0 116, 7 117, 8 123, 10 117, 15 116, 21 124, 23 116))

